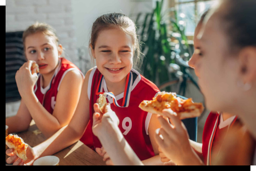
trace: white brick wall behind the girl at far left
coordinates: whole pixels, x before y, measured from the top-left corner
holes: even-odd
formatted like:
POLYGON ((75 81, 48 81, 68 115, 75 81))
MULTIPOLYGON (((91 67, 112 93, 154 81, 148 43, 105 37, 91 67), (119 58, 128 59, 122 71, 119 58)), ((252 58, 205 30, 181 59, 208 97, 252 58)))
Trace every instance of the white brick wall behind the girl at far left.
MULTIPOLYGON (((45 22, 57 31, 68 60, 78 65, 75 26, 71 0, 0 0, 6 6, 6 32, 23 31, 29 25, 45 22)), ((17 113, 19 102, 6 104, 6 116, 17 113)))

